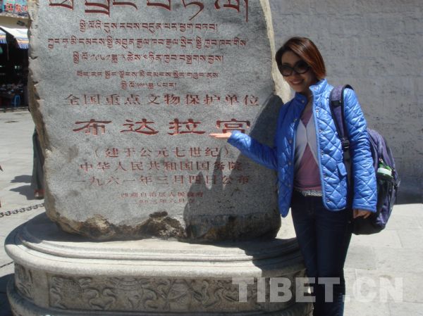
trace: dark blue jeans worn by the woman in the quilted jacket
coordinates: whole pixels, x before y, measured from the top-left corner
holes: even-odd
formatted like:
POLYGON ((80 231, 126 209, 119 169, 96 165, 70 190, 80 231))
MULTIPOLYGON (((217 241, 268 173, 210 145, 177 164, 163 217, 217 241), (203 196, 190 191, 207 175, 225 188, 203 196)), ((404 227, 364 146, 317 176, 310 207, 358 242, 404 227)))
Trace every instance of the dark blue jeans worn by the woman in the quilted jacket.
POLYGON ((291 212, 307 276, 314 281, 310 282, 315 298, 313 316, 342 316, 351 210, 326 210, 320 196, 305 197, 294 191, 291 212), (319 278, 327 277, 336 278, 338 284, 333 284, 333 297, 325 298, 325 279, 319 282, 319 278))

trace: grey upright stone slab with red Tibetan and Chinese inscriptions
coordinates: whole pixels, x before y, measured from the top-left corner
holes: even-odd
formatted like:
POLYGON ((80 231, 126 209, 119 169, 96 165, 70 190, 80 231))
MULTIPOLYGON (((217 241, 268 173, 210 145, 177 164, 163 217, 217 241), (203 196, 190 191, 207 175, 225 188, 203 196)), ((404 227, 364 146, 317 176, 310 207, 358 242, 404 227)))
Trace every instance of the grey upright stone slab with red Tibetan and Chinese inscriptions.
POLYGON ((273 143, 269 4, 39 0, 32 113, 46 210, 97 240, 276 236, 276 175, 210 133, 273 143))

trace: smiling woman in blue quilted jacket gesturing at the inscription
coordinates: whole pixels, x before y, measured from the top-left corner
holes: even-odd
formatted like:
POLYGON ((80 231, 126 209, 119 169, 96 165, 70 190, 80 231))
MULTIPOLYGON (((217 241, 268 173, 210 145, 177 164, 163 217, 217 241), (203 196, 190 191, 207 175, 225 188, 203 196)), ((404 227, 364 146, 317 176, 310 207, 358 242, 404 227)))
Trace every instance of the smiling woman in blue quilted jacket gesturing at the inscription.
POLYGON ((353 165, 353 194, 347 203, 347 172, 329 108, 333 87, 324 79, 326 70, 319 50, 309 39, 293 37, 276 53, 276 63, 295 96, 281 107, 274 147, 240 132, 211 136, 228 139, 252 160, 277 170, 279 209, 283 217, 289 208, 292 211, 314 293, 313 315, 340 316, 351 210, 353 217, 376 212, 376 178, 366 122, 354 91, 347 89, 345 122, 353 165), (325 284, 328 291, 333 289, 333 296, 325 298, 325 284))

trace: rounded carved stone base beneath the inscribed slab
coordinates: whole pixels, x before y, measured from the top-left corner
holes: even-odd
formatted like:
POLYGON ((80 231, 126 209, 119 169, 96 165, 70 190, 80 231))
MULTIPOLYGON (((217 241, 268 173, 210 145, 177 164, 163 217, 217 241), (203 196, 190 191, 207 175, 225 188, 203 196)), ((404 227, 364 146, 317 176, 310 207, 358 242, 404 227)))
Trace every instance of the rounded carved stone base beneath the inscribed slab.
POLYGON ((295 239, 100 243, 61 232, 39 215, 11 232, 6 251, 15 261, 8 284, 14 315, 303 316, 312 308, 295 303, 295 278, 304 276, 295 239), (271 299, 273 277, 292 284, 292 298, 271 299), (239 278, 254 282, 245 285, 245 301, 239 278))

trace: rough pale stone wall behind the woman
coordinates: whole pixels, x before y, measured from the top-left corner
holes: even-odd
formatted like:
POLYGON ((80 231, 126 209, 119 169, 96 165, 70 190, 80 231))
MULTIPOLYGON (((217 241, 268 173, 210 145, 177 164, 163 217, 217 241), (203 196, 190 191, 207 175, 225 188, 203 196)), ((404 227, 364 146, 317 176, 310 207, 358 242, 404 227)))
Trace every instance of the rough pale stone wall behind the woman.
POLYGON ((423 201, 423 11, 413 1, 270 0, 276 49, 311 38, 329 83, 351 84, 369 127, 391 146, 400 202, 423 201))

